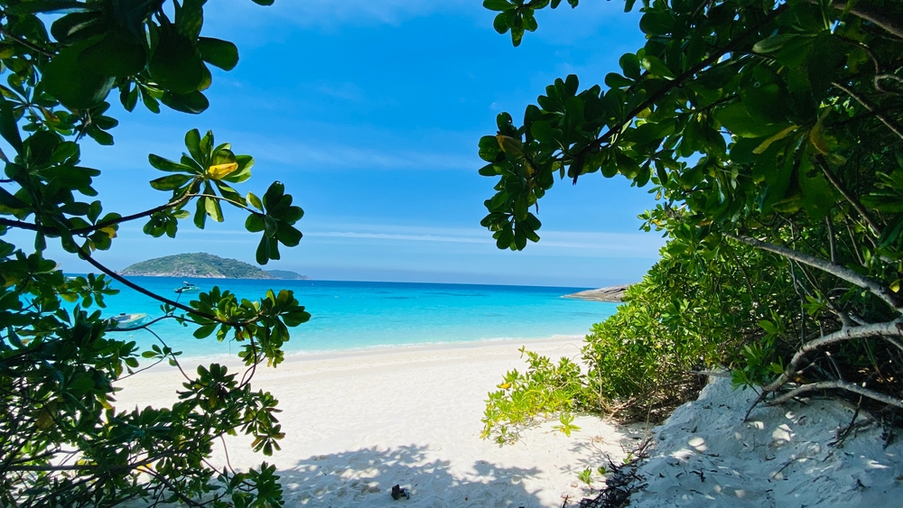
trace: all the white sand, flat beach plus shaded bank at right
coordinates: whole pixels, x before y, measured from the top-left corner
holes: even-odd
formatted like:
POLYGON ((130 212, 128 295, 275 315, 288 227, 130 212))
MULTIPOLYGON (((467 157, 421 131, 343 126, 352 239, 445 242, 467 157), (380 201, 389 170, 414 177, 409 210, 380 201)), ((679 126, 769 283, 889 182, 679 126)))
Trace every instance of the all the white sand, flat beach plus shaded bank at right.
MULTIPOLYGON (((606 464, 606 454, 618 463, 641 433, 582 417, 575 421, 582 430, 571 438, 552 430, 552 422, 502 447, 479 434, 486 393, 525 365, 519 346, 559 357, 578 356, 580 343, 499 341, 294 357, 255 378, 284 410, 282 451, 263 457, 247 441, 233 440, 231 463, 275 463, 287 506, 558 508, 565 497, 575 506, 594 495, 579 472, 606 464), (396 484, 411 490, 409 500, 392 499, 396 484)), ((149 371, 126 380, 117 405, 172 402, 180 383, 170 369, 149 371)), ((754 398, 718 378, 699 401, 653 429, 651 457, 638 470, 645 487, 630 506, 903 506, 903 439, 887 441, 887 429, 861 415, 838 445, 838 429, 853 411, 837 401, 762 406, 743 421, 754 398)))

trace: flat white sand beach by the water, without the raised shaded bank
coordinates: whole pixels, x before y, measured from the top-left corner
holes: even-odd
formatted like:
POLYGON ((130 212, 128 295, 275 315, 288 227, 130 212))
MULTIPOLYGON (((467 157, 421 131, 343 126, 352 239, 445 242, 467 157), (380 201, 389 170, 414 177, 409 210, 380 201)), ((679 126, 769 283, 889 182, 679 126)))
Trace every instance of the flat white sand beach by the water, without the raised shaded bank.
MULTIPOLYGON (((254 386, 279 399, 286 434, 274 457, 233 441, 233 466, 275 463, 288 506, 558 507, 591 493, 579 484, 602 454, 623 457, 636 442, 597 418, 575 421, 566 438, 548 423, 514 445, 479 439, 486 394, 526 365, 517 349, 578 356, 579 339, 411 346, 295 356, 258 370, 254 386), (395 501, 392 485, 411 489, 395 501)), ((191 361, 184 361, 185 366, 191 361)), ((123 383, 117 406, 172 403, 172 369, 123 383), (131 383, 129 383, 131 382, 131 383)))

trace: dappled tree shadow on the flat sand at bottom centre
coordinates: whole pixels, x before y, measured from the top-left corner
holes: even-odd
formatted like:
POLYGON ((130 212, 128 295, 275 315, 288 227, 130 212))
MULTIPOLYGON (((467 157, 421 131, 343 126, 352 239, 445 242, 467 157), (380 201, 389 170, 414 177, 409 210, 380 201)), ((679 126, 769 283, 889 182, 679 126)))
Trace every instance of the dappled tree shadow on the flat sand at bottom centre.
MULTIPOLYGON (((523 485, 542 475, 535 467, 499 467, 478 461, 469 467, 431 459, 429 448, 363 448, 308 457, 279 471, 286 506, 354 508, 494 508, 544 506, 523 485), (410 499, 392 498, 393 485, 407 488, 410 499)), ((548 501, 546 501, 548 503, 548 501)), ((561 501, 555 506, 560 506, 561 501)))

